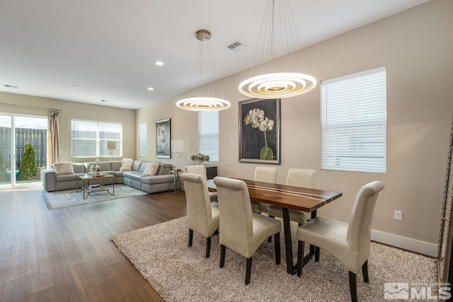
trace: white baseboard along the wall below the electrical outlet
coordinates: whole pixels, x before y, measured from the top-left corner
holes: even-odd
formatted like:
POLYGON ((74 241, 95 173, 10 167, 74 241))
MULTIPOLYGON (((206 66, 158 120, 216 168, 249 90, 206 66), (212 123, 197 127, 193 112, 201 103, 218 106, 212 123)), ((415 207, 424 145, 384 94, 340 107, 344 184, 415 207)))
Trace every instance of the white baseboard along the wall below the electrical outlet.
POLYGON ((428 255, 431 257, 437 256, 437 245, 433 243, 427 243, 424 241, 415 240, 376 230, 371 230, 371 240, 380 243, 385 243, 388 245, 393 245, 396 248, 403 248, 405 250, 419 252, 420 254, 428 255))

